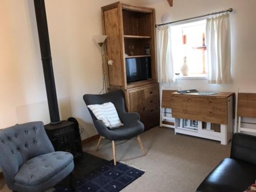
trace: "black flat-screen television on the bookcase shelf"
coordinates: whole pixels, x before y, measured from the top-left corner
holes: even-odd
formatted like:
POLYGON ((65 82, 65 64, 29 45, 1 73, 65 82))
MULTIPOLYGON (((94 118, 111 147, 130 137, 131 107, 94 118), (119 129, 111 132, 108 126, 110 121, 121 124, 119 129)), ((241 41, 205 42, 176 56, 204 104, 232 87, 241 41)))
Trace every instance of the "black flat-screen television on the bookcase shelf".
POLYGON ((127 83, 151 79, 151 57, 126 58, 127 83))

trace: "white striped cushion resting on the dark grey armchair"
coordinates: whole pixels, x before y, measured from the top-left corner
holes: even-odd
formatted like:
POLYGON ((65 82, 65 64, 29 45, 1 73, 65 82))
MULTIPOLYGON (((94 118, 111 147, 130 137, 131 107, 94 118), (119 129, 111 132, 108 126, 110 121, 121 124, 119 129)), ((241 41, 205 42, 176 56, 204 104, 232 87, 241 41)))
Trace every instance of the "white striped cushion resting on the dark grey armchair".
POLYGON ((88 108, 92 110, 95 117, 101 120, 106 127, 115 129, 122 126, 122 122, 118 117, 115 105, 112 102, 103 104, 90 104, 88 108))

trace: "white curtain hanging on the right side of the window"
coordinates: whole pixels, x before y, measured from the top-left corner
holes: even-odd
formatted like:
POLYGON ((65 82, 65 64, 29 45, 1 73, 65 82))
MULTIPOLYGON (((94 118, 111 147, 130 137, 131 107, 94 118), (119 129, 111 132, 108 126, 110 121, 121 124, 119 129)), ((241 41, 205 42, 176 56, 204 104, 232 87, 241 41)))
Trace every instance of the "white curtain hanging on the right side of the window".
POLYGON ((207 18, 206 44, 209 83, 229 83, 231 81, 229 14, 207 18))

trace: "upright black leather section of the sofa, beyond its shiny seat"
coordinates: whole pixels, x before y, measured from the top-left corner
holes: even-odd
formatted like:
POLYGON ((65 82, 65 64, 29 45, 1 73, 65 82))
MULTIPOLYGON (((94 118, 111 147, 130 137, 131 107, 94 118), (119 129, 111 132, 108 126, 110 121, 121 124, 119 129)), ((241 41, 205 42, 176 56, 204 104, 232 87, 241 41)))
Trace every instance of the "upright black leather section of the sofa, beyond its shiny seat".
POLYGON ((242 133, 234 134, 230 158, 256 165, 256 137, 242 133))

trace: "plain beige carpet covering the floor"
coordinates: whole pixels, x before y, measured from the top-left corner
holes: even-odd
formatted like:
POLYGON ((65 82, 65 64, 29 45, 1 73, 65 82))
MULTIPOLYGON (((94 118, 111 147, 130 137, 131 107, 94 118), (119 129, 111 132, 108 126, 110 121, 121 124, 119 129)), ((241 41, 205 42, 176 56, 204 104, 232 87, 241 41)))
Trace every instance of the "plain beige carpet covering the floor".
MULTIPOLYGON (((207 174, 230 154, 230 142, 221 145, 217 141, 175 135, 174 130, 167 128, 155 127, 143 133, 141 139, 146 156, 142 155, 136 138, 117 142, 118 161, 147 170, 122 192, 193 192, 207 174)), ((83 150, 113 159, 111 141, 102 140, 98 152, 95 152, 96 143, 84 145, 83 150)), ((0 191, 9 190, 5 185, 0 191)))

